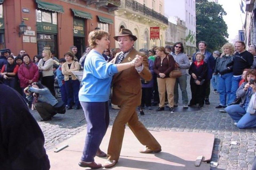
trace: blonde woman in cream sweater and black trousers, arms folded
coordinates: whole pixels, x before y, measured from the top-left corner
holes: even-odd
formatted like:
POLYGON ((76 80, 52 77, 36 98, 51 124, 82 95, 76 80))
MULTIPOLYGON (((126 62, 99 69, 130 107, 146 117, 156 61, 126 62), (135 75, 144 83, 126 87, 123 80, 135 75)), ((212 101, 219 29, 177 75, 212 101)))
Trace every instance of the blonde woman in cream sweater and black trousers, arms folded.
POLYGON ((43 58, 38 62, 38 70, 42 73, 41 83, 45 85, 55 96, 54 91, 54 76, 53 76, 53 59, 51 58, 50 50, 43 50, 43 58))

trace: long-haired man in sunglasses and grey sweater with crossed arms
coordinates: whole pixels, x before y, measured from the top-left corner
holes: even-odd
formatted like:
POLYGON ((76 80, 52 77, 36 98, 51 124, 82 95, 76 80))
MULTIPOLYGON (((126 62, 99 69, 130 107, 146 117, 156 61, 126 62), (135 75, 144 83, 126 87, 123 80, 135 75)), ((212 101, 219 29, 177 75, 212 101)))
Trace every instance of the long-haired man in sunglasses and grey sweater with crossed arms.
POLYGON ((174 86, 174 107, 178 106, 179 102, 179 88, 181 89, 182 95, 182 104, 183 108, 188 108, 187 103, 189 99, 187 97, 187 74, 186 69, 189 69, 190 62, 187 58, 187 55, 184 54, 184 47, 182 42, 177 42, 173 45, 173 50, 171 55, 173 56, 177 66, 181 69, 182 76, 176 78, 175 86, 174 86))

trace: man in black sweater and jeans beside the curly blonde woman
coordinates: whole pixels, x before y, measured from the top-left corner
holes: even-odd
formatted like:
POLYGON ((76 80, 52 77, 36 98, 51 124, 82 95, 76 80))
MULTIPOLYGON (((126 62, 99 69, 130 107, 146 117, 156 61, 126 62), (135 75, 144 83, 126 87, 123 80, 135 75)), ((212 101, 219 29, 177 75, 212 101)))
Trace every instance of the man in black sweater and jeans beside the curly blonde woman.
POLYGON ((235 42, 235 50, 237 52, 234 57, 231 94, 227 103, 232 103, 235 100, 239 82, 242 79, 243 70, 249 69, 253 64, 253 55, 245 50, 245 43, 243 41, 235 42))

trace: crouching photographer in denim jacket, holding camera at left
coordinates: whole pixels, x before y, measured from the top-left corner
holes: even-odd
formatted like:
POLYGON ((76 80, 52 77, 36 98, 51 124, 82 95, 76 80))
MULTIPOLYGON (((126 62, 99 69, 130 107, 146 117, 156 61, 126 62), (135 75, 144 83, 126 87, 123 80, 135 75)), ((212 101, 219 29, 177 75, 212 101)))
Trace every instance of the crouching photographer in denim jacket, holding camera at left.
POLYGON ((58 100, 41 83, 32 83, 31 87, 24 89, 24 93, 29 101, 33 101, 35 109, 42 117, 41 121, 51 120, 51 117, 56 114, 53 106, 58 103, 58 100))

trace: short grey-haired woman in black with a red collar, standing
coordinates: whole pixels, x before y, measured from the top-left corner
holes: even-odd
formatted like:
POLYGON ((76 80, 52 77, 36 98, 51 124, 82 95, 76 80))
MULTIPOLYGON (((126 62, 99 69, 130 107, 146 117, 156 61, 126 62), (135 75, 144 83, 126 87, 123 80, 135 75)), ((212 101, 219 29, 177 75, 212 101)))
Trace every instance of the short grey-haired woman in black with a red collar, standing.
POLYGON ((205 79, 207 77, 207 63, 203 61, 205 56, 201 52, 195 54, 196 61, 189 67, 190 78, 190 88, 192 99, 190 100, 189 106, 196 105, 198 107, 203 107, 206 84, 205 79))

